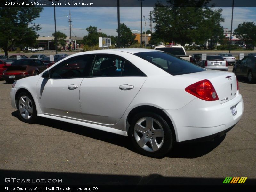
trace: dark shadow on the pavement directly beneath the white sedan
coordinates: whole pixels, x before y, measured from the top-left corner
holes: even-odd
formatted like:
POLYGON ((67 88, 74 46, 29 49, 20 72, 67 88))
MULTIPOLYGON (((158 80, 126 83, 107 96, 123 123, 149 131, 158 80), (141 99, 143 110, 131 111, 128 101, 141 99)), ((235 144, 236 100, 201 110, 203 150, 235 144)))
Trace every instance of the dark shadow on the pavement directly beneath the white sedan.
MULTIPOLYGON (((12 112, 12 116, 19 118, 18 111, 12 112)), ((138 153, 132 146, 132 142, 130 141, 129 137, 43 117, 38 118, 37 124, 108 142, 138 153)), ((214 148, 220 145, 224 139, 225 135, 212 142, 176 143, 172 151, 167 154, 166 157, 188 159, 201 157, 208 154, 214 148)))

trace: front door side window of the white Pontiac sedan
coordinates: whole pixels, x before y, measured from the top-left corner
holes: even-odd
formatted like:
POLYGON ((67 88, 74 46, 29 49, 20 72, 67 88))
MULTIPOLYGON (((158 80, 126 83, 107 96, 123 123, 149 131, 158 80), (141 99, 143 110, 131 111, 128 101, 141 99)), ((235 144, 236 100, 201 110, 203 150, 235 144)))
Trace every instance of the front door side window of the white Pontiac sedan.
POLYGON ((50 78, 81 78, 89 75, 92 55, 83 55, 62 61, 50 70, 50 78))

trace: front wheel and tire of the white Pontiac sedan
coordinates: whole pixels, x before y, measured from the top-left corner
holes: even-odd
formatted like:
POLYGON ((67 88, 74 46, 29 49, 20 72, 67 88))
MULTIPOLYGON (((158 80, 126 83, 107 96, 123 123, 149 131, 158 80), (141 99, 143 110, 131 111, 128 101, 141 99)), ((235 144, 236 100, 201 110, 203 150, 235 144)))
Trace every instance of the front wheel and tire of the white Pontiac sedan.
POLYGON ((19 94, 17 109, 20 120, 22 120, 25 123, 36 123, 36 105, 32 96, 29 93, 21 92, 19 94))

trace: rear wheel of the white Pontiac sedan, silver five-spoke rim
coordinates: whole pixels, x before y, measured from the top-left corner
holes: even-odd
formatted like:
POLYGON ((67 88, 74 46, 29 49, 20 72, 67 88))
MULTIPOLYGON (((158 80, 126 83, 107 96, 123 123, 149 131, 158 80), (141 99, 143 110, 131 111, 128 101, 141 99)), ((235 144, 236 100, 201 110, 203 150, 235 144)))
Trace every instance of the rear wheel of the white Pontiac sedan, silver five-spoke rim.
POLYGON ((164 118, 153 112, 141 112, 136 114, 132 119, 128 134, 134 147, 142 155, 148 157, 163 157, 173 146, 172 134, 174 133, 172 133, 171 128, 164 118), (152 121, 150 119, 152 119, 152 121), (147 126, 147 122, 153 122, 151 123, 153 125, 148 124, 147 126), (139 124, 140 126, 138 126, 139 124), (152 127, 152 129, 150 129, 150 127, 152 127), (156 137, 156 135, 163 135, 163 137, 156 137))

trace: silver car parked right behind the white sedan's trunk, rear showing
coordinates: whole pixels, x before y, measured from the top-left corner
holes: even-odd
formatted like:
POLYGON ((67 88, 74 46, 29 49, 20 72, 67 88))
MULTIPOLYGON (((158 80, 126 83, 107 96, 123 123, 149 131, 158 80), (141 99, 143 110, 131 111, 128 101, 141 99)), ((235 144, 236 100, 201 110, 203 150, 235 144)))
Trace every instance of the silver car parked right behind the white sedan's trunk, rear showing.
POLYGON ((207 55, 205 61, 201 58, 196 65, 206 69, 228 71, 228 62, 220 55, 207 55))

